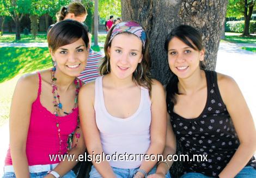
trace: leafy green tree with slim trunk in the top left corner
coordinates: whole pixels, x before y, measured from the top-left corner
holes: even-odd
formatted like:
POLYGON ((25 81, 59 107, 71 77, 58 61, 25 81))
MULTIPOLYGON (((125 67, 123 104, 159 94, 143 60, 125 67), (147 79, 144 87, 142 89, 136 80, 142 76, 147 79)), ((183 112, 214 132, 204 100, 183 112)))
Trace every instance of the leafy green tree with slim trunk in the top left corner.
POLYGON ((20 21, 24 14, 28 13, 31 0, 3 0, 3 6, 8 10, 15 22, 16 40, 21 39, 20 21))

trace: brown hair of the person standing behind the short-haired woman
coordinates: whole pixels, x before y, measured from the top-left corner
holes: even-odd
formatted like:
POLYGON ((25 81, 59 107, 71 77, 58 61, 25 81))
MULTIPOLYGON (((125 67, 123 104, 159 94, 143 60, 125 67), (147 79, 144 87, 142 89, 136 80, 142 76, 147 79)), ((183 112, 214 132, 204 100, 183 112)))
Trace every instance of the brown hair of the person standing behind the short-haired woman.
POLYGON ((65 16, 68 13, 73 13, 75 16, 87 15, 86 8, 80 2, 72 2, 68 7, 62 7, 59 12, 56 14, 57 21, 64 20, 65 16))

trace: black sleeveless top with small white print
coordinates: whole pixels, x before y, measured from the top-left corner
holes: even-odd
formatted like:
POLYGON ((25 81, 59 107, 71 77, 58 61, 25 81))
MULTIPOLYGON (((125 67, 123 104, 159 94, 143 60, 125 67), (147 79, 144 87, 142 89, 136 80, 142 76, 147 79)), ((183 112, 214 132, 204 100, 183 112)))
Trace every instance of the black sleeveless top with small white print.
MULTIPOLYGON (((217 84, 217 73, 206 71, 207 101, 203 112, 194 119, 185 119, 174 113, 172 103, 167 99, 168 113, 176 139, 189 155, 190 161, 184 161, 184 174, 189 172, 217 176, 224 169, 239 146, 239 139, 225 107, 217 84), (197 161, 193 155, 207 155, 207 161, 197 161)), ((241 118, 243 119, 243 118, 241 118)), ((196 157, 195 157, 196 158, 196 157)), ((247 165, 256 168, 252 157, 247 165)))

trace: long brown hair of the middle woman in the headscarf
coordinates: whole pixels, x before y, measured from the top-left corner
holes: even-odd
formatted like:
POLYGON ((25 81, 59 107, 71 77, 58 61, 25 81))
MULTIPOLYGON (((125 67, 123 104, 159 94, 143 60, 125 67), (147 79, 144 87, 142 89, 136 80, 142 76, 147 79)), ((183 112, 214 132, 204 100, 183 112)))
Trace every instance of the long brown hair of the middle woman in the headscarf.
MULTIPOLYGON (((137 22, 136 22, 137 23, 137 22)), ((109 63, 109 54, 107 52, 108 47, 111 47, 111 42, 109 43, 109 40, 111 38, 111 34, 112 31, 114 29, 116 25, 114 25, 108 32, 107 34, 107 38, 105 41, 105 45, 104 45, 104 52, 105 52, 105 57, 103 57, 102 59, 102 63, 100 65, 100 74, 101 75, 106 75, 107 73, 111 72, 111 66, 109 63), (108 61, 108 66, 107 66, 107 61, 108 61), (108 71, 107 71, 108 69, 108 71)), ((130 32, 121 32, 120 34, 129 34, 129 35, 134 35, 130 32)), ((118 34, 117 34, 118 35, 118 34)), ((132 74, 132 80, 133 82, 135 82, 136 84, 138 84, 139 86, 145 87, 149 90, 149 94, 151 95, 151 84, 152 84, 152 79, 151 79, 151 75, 150 75, 150 71, 149 71, 149 67, 151 66, 151 62, 150 62, 150 55, 149 55, 149 41, 146 35, 146 43, 145 43, 145 48, 143 48, 142 45, 142 62, 141 64, 137 65, 137 69, 135 72, 133 72, 132 74), (142 69, 143 68, 143 69, 142 69)))

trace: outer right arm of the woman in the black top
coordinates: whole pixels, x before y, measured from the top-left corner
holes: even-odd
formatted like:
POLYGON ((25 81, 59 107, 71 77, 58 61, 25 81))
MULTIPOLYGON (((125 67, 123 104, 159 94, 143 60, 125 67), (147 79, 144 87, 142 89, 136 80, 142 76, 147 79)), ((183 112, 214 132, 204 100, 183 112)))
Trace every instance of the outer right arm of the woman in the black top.
POLYGON ((252 115, 234 79, 218 74, 218 87, 240 141, 234 156, 219 176, 235 177, 254 155, 256 131, 252 115))

